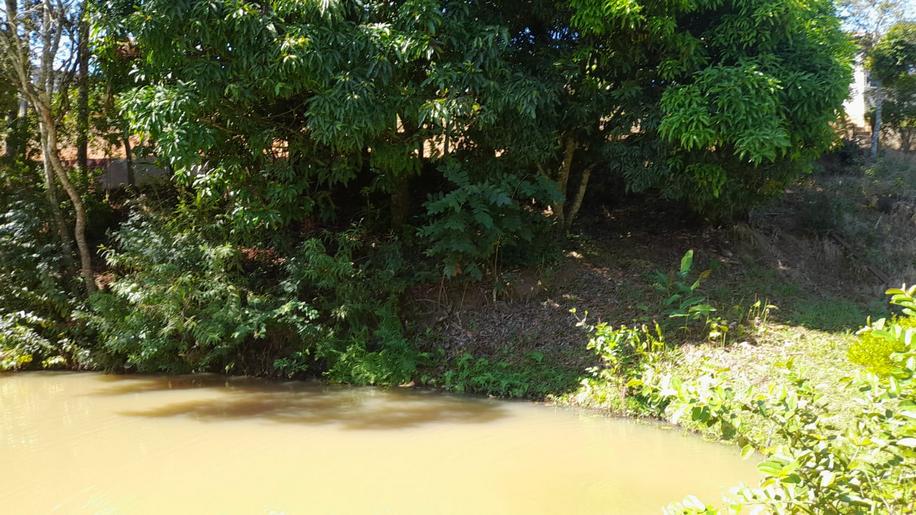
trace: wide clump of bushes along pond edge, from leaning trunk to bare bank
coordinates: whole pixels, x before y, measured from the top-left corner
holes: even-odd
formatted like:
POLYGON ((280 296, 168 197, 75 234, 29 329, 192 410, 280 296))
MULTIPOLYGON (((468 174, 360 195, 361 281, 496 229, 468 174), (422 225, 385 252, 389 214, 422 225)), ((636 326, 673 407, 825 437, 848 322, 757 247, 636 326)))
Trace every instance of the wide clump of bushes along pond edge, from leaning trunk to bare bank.
POLYGON ((285 259, 188 227, 135 214, 114 235, 106 258, 117 275, 89 315, 110 367, 409 378, 397 268, 373 275, 357 265, 358 233, 325 238, 331 250, 322 238, 307 239, 285 259))

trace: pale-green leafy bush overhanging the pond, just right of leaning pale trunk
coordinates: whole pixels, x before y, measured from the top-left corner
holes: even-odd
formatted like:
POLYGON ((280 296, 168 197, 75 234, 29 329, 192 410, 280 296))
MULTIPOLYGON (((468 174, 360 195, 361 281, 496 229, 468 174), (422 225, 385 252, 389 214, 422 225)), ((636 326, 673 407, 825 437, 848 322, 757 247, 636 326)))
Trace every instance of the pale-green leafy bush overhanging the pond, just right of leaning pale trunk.
MULTIPOLYGON (((117 274, 110 292, 92 299, 90 324, 112 366, 141 372, 270 373, 243 362, 244 347, 286 346, 279 331, 311 329, 317 313, 253 291, 241 277, 238 248, 214 244, 180 223, 133 215, 113 236, 105 258, 117 274)), ((292 342, 290 342, 292 343, 292 342)), ((273 350, 277 352, 277 350, 273 350)))

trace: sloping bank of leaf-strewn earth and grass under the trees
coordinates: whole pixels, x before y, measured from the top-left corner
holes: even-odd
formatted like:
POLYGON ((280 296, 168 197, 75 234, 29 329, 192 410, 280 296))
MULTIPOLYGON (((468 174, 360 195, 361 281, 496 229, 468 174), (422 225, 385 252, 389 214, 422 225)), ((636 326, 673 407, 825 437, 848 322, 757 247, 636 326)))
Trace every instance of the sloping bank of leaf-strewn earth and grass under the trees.
POLYGON ((507 271, 483 288, 417 291, 421 345, 440 358, 427 382, 575 399, 583 371, 597 364, 585 347, 590 325, 658 320, 673 328, 672 366, 685 372, 703 361, 740 384, 763 385, 784 375, 777 365, 791 358, 829 394, 853 369, 852 333, 869 316, 887 315, 884 290, 916 278, 913 159, 839 159, 824 160, 747 223, 709 227, 670 206, 606 206, 541 267, 507 271), (658 274, 673 274, 688 250, 692 273, 704 275, 697 294, 715 309, 724 337, 709 338, 696 324, 681 330, 669 318, 658 274))

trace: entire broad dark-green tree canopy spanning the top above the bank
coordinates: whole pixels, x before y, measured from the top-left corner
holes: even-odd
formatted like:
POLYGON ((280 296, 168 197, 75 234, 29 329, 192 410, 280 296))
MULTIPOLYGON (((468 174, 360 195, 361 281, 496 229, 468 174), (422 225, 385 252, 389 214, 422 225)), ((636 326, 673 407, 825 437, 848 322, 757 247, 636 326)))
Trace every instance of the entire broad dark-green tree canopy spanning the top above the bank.
MULTIPOLYGON (((593 170, 730 215, 829 145, 850 76, 828 0, 147 0, 128 26, 133 127, 248 233, 340 218, 344 191, 400 224, 446 157, 566 227, 593 170)), ((489 229, 499 202, 456 204, 489 229)))

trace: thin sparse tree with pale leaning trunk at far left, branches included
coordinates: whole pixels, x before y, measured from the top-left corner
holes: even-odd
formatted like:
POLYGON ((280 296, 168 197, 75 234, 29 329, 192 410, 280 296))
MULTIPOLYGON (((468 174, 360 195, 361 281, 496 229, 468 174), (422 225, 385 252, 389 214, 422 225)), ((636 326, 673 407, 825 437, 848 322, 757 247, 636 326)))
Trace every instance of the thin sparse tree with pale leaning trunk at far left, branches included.
POLYGON ((78 3, 51 0, 24 2, 5 0, 0 15, 0 72, 16 84, 38 117, 45 184, 62 242, 68 231, 57 201, 59 184, 75 213, 74 239, 79 250, 80 272, 86 291, 95 290, 92 250, 86 240, 86 209, 61 161, 59 126, 69 109, 67 91, 73 75, 78 3))

